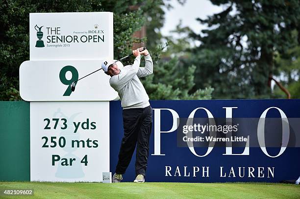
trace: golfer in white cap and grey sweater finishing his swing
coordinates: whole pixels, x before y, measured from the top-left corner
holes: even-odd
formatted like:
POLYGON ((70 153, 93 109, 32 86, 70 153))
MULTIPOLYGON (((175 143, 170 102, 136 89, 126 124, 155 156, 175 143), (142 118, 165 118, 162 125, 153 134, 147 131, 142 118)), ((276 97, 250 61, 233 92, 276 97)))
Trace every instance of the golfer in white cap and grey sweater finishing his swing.
POLYGON ((133 65, 118 68, 113 61, 104 61, 102 69, 110 75, 109 84, 120 96, 123 107, 124 137, 119 152, 119 160, 113 182, 120 182, 136 148, 134 182, 145 182, 149 155, 149 138, 152 126, 152 108, 148 94, 139 80, 153 73, 153 62, 147 49, 133 50, 133 65), (145 67, 140 67, 141 55, 145 57, 145 67))

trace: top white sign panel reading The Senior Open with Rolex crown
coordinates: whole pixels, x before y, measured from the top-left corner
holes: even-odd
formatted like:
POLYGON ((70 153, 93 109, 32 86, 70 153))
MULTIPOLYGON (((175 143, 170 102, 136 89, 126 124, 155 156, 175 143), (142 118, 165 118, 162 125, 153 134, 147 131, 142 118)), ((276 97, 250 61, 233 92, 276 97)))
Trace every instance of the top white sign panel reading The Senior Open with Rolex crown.
POLYGON ((113 13, 30 13, 30 60, 113 58, 113 13))

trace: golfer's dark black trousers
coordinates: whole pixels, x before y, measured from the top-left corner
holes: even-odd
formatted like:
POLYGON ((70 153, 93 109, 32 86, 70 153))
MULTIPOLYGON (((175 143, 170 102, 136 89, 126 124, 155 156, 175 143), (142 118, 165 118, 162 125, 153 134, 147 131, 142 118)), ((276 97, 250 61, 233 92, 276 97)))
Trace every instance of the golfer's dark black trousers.
POLYGON ((125 174, 130 163, 135 146, 135 174, 146 176, 149 155, 149 138, 152 127, 152 108, 123 110, 124 137, 119 152, 117 174, 125 174))

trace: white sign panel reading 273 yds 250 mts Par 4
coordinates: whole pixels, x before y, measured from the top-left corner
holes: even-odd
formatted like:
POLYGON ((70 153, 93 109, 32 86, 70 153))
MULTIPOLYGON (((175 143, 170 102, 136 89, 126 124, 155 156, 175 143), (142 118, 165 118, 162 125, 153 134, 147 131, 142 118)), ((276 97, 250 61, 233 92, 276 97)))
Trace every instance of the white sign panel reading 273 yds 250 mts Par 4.
POLYGON ((109 102, 31 102, 30 180, 102 181, 109 102))

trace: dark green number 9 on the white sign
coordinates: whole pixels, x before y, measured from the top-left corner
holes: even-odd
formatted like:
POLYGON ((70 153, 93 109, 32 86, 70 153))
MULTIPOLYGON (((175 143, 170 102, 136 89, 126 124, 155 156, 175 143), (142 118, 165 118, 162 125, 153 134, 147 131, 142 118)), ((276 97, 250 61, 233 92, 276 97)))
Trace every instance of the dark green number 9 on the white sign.
MULTIPOLYGON (((65 66, 59 72, 59 79, 60 79, 61 83, 68 86, 68 88, 66 89, 63 96, 70 96, 72 93, 71 84, 73 82, 75 82, 76 80, 78 80, 78 71, 74 66, 65 66), (70 80, 67 80, 67 78, 66 78, 66 73, 68 71, 70 71, 72 73, 72 78, 70 80)), ((76 84, 77 84, 77 82, 75 82, 75 85, 76 84)))

